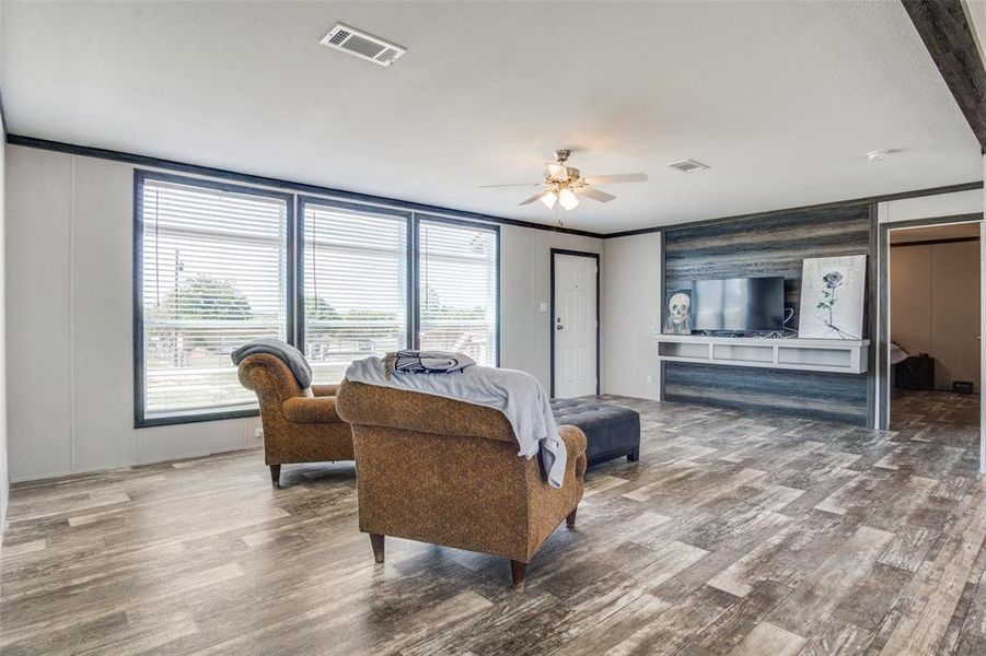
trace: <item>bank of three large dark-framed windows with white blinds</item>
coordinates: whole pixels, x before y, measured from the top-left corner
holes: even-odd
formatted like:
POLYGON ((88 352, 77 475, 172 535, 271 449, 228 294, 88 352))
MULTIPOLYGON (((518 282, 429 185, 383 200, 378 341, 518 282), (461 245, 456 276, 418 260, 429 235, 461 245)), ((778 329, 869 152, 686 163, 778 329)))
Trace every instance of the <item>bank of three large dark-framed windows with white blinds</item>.
POLYGON ((135 210, 138 426, 256 414, 230 354, 262 337, 317 383, 406 348, 499 362, 496 225, 149 172, 135 210))

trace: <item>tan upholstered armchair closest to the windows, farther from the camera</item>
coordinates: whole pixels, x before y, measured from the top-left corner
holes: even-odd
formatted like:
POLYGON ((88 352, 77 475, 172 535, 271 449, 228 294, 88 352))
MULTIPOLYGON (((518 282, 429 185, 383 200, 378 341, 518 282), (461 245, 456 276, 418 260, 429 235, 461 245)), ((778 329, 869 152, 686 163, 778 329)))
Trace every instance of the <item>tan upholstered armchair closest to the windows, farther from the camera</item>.
POLYGON ((281 465, 352 459, 352 433, 336 413, 338 385, 303 390, 275 355, 247 355, 240 383, 257 394, 264 424, 264 456, 270 481, 280 488, 281 465))

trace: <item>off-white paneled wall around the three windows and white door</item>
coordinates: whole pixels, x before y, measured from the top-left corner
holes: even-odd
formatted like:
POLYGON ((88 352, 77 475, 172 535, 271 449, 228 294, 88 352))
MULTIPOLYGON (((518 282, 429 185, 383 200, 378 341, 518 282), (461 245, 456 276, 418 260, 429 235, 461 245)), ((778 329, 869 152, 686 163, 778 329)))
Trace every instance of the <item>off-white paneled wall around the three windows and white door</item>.
MULTIPOLYGON (((11 479, 258 445, 255 418, 134 429, 134 166, 21 147, 7 164, 11 479)), ((501 230, 501 365, 547 386, 548 250, 602 241, 501 230)))

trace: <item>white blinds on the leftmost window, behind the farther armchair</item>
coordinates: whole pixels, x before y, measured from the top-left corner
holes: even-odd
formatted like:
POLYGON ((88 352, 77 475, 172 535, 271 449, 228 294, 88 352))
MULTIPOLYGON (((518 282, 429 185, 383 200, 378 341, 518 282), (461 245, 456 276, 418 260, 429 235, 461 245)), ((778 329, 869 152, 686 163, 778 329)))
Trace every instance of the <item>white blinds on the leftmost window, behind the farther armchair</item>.
POLYGON ((255 407, 230 353, 287 339, 291 198, 167 176, 139 190, 143 417, 255 407))

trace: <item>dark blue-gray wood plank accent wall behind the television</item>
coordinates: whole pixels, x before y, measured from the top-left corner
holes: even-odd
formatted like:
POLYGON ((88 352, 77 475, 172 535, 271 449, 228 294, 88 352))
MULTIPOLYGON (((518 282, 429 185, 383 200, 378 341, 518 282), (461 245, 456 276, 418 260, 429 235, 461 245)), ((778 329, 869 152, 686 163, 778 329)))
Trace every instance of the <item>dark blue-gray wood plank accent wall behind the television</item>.
MULTIPOLYGON (((873 296, 871 204, 743 216, 664 233, 664 289, 693 280, 784 276, 785 304, 798 327, 804 258, 867 255, 869 281, 863 337, 869 337, 873 296)), ((663 304, 662 304, 663 305, 663 304)), ((871 352, 875 352, 871 349, 871 352)), ((870 365, 872 372, 872 364, 870 365)), ((869 422, 871 374, 828 374, 681 362, 664 363, 664 398, 673 401, 869 422)))

